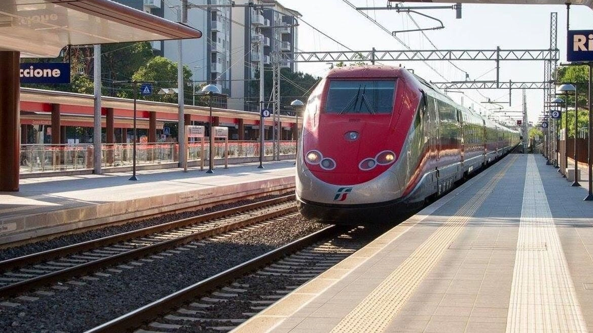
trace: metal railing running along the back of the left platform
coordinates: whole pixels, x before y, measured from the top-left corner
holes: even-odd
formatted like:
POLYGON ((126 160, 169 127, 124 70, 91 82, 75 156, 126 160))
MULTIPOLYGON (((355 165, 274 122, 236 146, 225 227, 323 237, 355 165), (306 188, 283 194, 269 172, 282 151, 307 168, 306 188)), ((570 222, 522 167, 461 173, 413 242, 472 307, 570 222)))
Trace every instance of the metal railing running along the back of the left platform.
MULTIPOLYGON (((225 157, 224 141, 214 142, 214 158, 225 157)), ((258 157, 260 143, 256 141, 229 141, 228 158, 258 157)), ((205 160, 209 156, 208 141, 204 145, 205 160)), ((177 143, 139 143, 136 145, 136 165, 158 165, 178 161, 179 147, 177 143)), ((202 158, 202 144, 190 142, 187 146, 188 162, 200 161, 202 158)), ((294 155, 296 146, 294 141, 280 141, 281 155, 294 155)), ((264 143, 264 156, 273 155, 273 143, 264 143)), ((101 167, 127 167, 133 164, 132 143, 103 143, 101 152, 101 167)), ((21 145, 20 173, 72 171, 77 169, 93 169, 93 144, 81 143, 76 145, 21 145)))

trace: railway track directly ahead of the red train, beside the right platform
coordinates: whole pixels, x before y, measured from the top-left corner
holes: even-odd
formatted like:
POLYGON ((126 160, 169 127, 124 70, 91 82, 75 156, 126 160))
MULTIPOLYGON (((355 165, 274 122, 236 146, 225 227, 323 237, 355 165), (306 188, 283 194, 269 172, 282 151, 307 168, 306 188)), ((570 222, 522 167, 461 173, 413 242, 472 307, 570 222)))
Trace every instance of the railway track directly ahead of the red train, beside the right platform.
POLYGON ((328 226, 85 333, 230 331, 362 248, 367 241, 353 242, 356 233, 368 234, 328 226))

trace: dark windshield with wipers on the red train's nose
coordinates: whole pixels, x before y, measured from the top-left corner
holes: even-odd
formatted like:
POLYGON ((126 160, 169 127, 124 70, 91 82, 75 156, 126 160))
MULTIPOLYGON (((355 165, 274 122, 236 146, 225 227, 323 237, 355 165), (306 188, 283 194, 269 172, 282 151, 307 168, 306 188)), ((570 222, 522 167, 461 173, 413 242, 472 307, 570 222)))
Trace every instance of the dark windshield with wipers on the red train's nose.
POLYGON ((326 113, 390 114, 394 80, 333 80, 327 92, 326 113))

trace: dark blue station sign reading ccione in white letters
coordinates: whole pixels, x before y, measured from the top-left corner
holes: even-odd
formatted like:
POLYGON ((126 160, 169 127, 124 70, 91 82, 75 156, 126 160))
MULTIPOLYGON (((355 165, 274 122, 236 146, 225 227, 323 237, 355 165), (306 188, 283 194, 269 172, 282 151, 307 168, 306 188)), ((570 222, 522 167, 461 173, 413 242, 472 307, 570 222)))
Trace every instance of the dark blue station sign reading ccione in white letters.
POLYGON ((70 64, 65 62, 21 63, 23 84, 70 83, 70 64))

